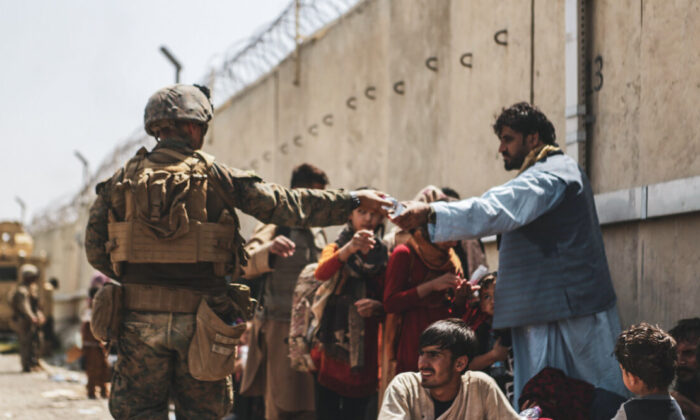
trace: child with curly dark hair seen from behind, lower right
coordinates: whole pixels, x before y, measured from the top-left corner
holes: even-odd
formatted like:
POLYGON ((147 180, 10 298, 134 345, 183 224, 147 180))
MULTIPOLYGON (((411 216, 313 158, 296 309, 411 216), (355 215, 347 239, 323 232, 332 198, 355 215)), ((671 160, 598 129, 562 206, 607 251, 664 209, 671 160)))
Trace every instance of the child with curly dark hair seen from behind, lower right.
POLYGON ((642 322, 623 331, 615 344, 622 381, 636 396, 612 420, 683 420, 668 392, 676 367, 676 342, 661 328, 642 322))

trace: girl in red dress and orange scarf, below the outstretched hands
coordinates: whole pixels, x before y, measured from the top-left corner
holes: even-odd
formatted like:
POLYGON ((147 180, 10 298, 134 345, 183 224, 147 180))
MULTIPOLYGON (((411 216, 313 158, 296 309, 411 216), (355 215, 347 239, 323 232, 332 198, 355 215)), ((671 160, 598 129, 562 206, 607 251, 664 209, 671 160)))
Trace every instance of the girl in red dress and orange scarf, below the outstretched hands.
POLYGON ((400 318, 396 374, 418 370, 418 339, 424 329, 435 321, 461 315, 453 313, 459 308, 452 305, 454 292, 463 282, 462 265, 452 249, 456 242, 433 244, 425 235, 421 230, 412 232, 407 244, 394 249, 387 267, 384 309, 400 318))

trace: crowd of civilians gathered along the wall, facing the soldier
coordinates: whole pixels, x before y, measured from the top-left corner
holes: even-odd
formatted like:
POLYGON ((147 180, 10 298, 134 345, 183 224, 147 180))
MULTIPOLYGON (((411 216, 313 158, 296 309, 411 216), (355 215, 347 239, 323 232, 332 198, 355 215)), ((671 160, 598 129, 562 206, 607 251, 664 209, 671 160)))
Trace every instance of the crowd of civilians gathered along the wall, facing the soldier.
POLYGON ((518 175, 481 197, 427 186, 392 223, 355 209, 335 238, 256 228, 236 419, 700 419, 700 319, 621 331, 585 173, 529 104, 493 128, 518 175), (494 234, 498 271, 480 240, 494 234), (310 318, 300 354, 290 332, 310 318))

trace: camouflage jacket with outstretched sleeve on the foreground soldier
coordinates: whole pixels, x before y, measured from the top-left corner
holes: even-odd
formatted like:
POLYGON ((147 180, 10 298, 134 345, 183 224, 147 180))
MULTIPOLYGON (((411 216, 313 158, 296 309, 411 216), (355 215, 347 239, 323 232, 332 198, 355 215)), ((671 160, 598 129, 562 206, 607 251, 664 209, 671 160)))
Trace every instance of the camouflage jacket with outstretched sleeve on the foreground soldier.
MULTIPOLYGON (((168 147, 186 155, 194 151, 187 147, 177 147, 176 142, 161 141, 151 152, 149 159, 171 159, 156 153, 159 148, 168 147), (167 146, 166 146, 167 145, 167 146), (154 156, 157 155, 157 156, 154 156)), ((347 221, 352 211, 352 198, 349 193, 339 190, 287 189, 274 183, 266 183, 251 171, 241 171, 214 163, 210 176, 216 177, 228 197, 222 198, 224 207, 233 203, 236 209, 249 214, 263 223, 274 223, 291 227, 311 227, 339 225, 347 221)), ((112 206, 111 192, 117 182, 124 177, 124 169, 117 171, 110 179, 96 187, 97 198, 90 208, 85 233, 85 249, 90 264, 105 275, 122 281, 139 282, 148 279, 149 283, 162 282, 171 286, 198 289, 220 287, 222 279, 216 279, 207 263, 197 264, 127 264, 121 277, 112 269, 109 254, 105 250, 108 241, 108 212, 112 206), (181 282, 178 279, 182 279, 181 282), (192 280, 197 280, 193 283, 192 280)), ((208 197, 218 197, 210 186, 208 197)), ((207 199, 209 202, 209 199, 207 199)), ((209 204, 207 204, 209 207, 209 204)), ((234 209, 229 209, 233 211, 234 209)), ((242 244, 241 244, 242 246, 242 244)), ((235 250, 238 251, 238 250, 235 250)), ((243 250, 240 250, 243 253, 243 250)), ((245 261, 241 262, 245 264, 245 261)))

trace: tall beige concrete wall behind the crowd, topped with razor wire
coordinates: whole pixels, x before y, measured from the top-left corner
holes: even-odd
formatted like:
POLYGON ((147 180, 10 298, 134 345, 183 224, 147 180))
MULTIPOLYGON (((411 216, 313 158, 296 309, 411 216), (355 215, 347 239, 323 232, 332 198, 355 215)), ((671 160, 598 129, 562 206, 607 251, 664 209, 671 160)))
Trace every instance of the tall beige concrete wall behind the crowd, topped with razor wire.
MULTIPOLYGON (((534 102, 566 133, 564 2, 534 2, 534 102)), ((589 168, 595 193, 700 175, 700 5, 590 1, 589 168)), ((400 199, 427 184, 479 195, 510 179, 490 125, 530 98, 530 2, 370 0, 217 111, 208 150, 288 183, 302 162, 333 187, 373 185, 400 199), (507 46, 494 34, 507 29, 507 46), (460 57, 472 53, 472 67, 460 57), (437 58, 437 71, 426 68, 437 58), (394 92, 403 81, 405 94, 394 92), (370 99, 365 90, 370 90, 370 99), (351 109, 347 102, 349 98, 351 109), (323 117, 332 114, 332 125, 323 117), (310 134, 309 129, 315 133, 310 134), (296 139, 296 143, 295 143, 296 139)), ((504 38, 505 39, 505 38, 504 38)), ((465 60, 469 61, 469 59, 465 60)), ((248 231, 254 221, 246 219, 248 231)), ((623 324, 699 315, 700 215, 604 226, 623 324)), ((487 244, 497 267, 495 244, 487 244)))

